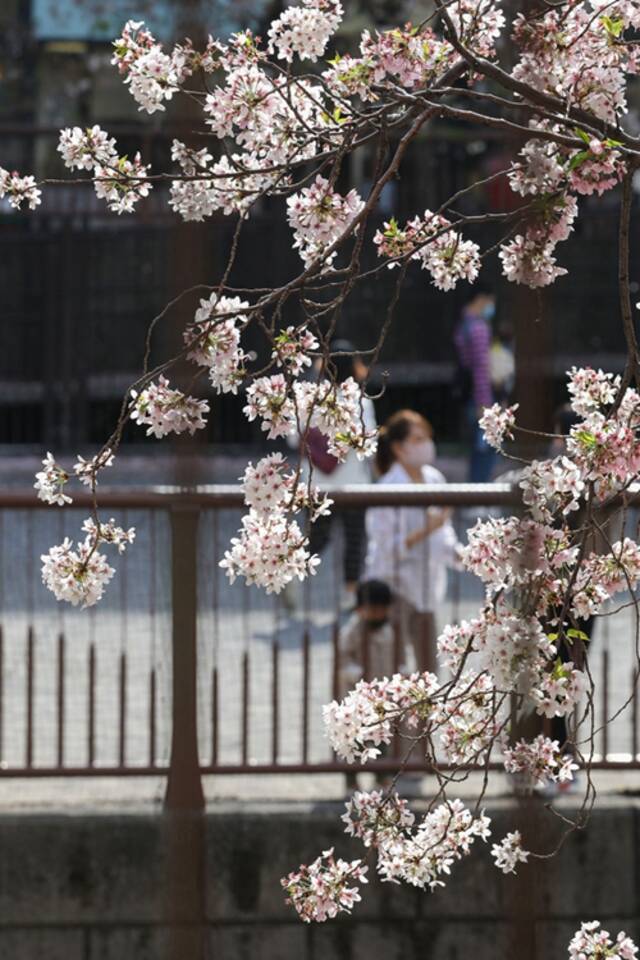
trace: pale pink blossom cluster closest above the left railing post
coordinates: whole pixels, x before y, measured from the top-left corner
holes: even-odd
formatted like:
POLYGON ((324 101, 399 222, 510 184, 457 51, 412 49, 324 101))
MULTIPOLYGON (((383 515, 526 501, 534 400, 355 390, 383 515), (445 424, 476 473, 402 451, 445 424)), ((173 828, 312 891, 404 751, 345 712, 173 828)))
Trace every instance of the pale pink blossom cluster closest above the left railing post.
POLYGON ((206 426, 209 413, 206 400, 185 396, 180 390, 169 386, 166 377, 160 376, 138 393, 131 391, 129 416, 140 426, 147 426, 147 436, 164 437, 168 433, 194 434, 206 426))

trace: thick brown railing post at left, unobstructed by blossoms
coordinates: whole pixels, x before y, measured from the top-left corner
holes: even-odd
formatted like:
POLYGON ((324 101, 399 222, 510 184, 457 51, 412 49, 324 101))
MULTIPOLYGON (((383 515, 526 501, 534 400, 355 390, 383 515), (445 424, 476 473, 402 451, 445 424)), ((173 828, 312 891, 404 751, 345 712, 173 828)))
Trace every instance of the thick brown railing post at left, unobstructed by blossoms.
POLYGON ((198 508, 171 511, 172 733, 165 797, 169 960, 205 957, 205 825, 197 724, 198 508))

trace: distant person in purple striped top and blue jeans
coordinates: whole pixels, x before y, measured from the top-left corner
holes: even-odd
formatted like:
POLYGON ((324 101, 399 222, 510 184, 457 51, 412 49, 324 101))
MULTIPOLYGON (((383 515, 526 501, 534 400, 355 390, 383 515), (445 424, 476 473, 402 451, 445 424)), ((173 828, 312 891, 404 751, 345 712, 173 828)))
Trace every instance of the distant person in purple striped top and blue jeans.
POLYGON ((465 306, 454 334, 458 355, 456 388, 471 443, 471 483, 487 483, 491 479, 495 460, 495 452, 478 426, 484 408, 494 403, 491 386, 491 321, 495 309, 496 299, 490 288, 476 283, 473 298, 465 306))

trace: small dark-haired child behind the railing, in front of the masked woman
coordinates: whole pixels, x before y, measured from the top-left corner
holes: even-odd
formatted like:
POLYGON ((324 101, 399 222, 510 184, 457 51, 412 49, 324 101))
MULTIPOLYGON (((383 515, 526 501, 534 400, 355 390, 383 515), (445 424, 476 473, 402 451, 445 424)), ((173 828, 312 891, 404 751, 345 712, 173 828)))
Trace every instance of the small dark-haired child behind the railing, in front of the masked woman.
MULTIPOLYGON (((391 589, 382 580, 363 580, 356 589, 356 607, 340 631, 338 695, 347 695, 358 680, 375 680, 406 672, 401 635, 391 622, 391 589), (396 643, 402 646, 396 649, 396 643)), ((376 780, 383 784, 384 775, 376 780)), ((357 788, 355 773, 346 775, 347 789, 357 788)))

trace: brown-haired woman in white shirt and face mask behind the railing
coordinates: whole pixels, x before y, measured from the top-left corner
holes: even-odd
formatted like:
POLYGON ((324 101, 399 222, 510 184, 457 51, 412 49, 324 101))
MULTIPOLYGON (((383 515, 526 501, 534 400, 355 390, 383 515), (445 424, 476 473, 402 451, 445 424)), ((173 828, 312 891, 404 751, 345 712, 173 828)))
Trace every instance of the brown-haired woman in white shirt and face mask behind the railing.
MULTIPOLYGON (((423 416, 400 410, 390 417, 380 431, 376 455, 380 483, 445 483, 434 460, 431 425, 423 416)), ((434 507, 367 510, 366 577, 383 580, 393 590, 396 616, 419 670, 436 670, 435 615, 458 546, 450 514, 434 507)))

